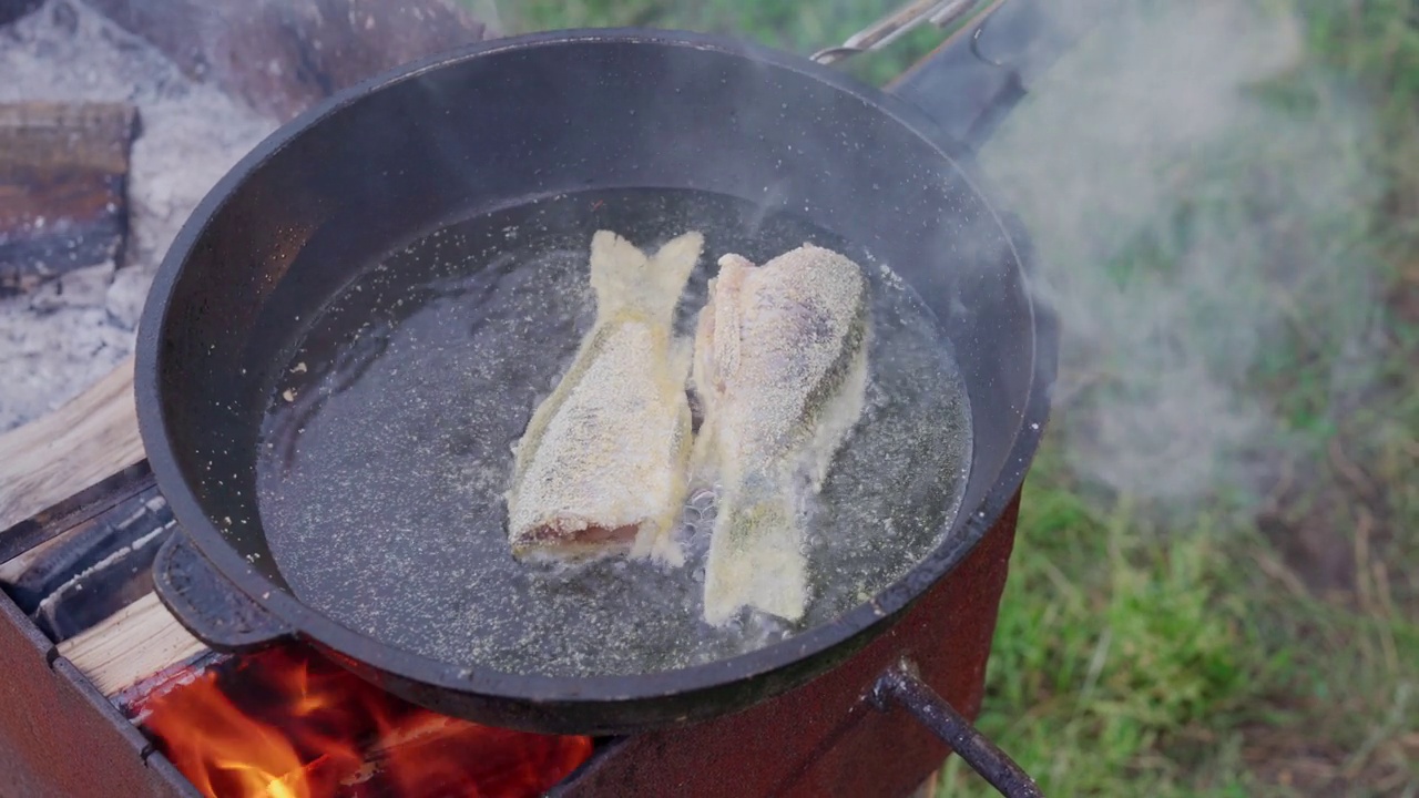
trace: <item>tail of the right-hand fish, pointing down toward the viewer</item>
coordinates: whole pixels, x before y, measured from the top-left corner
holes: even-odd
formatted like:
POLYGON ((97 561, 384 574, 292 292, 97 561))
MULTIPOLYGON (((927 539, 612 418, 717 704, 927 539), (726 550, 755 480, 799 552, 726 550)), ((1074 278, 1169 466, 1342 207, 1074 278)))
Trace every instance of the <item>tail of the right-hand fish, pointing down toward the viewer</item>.
POLYGON ((705 623, 722 626, 745 606, 793 622, 806 605, 803 530, 788 496, 728 491, 705 564, 705 623))

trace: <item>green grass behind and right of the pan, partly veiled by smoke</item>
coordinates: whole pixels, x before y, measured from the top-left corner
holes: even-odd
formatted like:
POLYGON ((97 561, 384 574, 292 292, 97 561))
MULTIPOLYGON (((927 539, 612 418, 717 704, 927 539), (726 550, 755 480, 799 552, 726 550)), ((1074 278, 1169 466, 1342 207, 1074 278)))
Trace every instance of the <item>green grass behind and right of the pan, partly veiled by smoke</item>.
MULTIPOLYGON (((1253 124, 1152 159, 1124 141, 1080 165, 1047 146, 1050 129, 1009 151, 1056 151, 1027 163, 1051 185, 1137 189, 1142 170, 1154 189, 1145 223, 1122 224, 1127 207, 1070 216, 1060 196, 1016 203, 1056 274, 1076 290, 1091 275, 1114 301, 1064 308, 1066 335, 1087 329, 1066 341, 979 720, 1047 794, 1419 795, 1419 9, 1257 4, 1298 20, 1300 58, 1243 87, 1253 124), (1199 266, 1219 253, 1225 271, 1199 266), (1122 312, 1149 301, 1175 325, 1161 342, 1122 312), (1195 371, 1168 366, 1176 352, 1195 371), (1192 416, 1161 393, 1179 373, 1213 389, 1185 385, 1192 416), (1169 461, 1158 452, 1176 440, 1138 442, 1127 425, 1110 437, 1151 402, 1172 413, 1171 437, 1209 444, 1169 461), (1124 456, 1137 473, 1107 467, 1124 456)), ((885 0, 499 9, 512 30, 690 27, 806 54, 885 0)), ((858 74, 881 82, 929 45, 912 37, 858 74)), ((1016 139, 1049 128, 1043 114, 1017 111, 1016 139)), ((998 166, 1009 195, 1020 165, 998 166)), ((990 794, 955 760, 942 780, 946 795, 990 794)))

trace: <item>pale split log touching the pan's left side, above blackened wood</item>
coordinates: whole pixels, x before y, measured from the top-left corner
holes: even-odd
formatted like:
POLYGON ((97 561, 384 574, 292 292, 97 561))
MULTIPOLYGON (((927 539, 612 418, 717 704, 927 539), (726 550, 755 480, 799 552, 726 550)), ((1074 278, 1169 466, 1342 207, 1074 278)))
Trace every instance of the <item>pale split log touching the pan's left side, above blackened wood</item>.
POLYGON ((129 358, 53 413, 0 434, 0 530, 142 459, 129 358))

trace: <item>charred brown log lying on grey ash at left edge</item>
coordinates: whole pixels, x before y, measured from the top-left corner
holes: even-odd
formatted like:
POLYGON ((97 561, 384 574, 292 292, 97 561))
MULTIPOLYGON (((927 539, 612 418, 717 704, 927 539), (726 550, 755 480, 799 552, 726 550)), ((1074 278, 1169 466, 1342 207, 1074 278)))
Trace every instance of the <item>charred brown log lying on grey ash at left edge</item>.
POLYGON ((0 104, 0 293, 118 263, 136 118, 126 102, 0 104))

